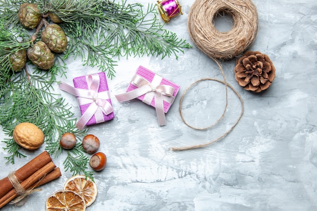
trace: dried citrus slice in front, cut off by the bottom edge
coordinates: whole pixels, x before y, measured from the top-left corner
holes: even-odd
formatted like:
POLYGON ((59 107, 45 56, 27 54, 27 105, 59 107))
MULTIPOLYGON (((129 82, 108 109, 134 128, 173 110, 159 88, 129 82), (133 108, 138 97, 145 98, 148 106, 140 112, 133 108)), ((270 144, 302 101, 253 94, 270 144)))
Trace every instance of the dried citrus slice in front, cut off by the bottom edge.
POLYGON ((47 211, 85 211, 86 204, 82 196, 73 191, 59 190, 46 200, 47 211))

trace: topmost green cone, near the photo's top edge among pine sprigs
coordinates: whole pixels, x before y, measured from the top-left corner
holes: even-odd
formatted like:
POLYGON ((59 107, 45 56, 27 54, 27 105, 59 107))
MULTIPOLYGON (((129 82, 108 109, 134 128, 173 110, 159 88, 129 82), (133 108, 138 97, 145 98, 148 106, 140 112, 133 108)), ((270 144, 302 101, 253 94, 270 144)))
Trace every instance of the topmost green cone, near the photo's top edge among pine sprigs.
POLYGON ((37 4, 23 3, 19 8, 20 23, 29 29, 35 28, 41 21, 42 14, 39 12, 37 4))

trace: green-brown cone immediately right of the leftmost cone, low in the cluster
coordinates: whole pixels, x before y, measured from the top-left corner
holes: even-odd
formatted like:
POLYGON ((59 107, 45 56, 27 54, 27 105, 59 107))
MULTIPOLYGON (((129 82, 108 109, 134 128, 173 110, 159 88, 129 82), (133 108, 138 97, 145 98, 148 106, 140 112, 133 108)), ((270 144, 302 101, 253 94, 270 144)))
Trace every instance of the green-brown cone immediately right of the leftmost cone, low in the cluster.
POLYGON ((55 55, 43 41, 38 41, 33 47, 29 47, 27 57, 35 66, 41 69, 48 70, 54 65, 55 55))

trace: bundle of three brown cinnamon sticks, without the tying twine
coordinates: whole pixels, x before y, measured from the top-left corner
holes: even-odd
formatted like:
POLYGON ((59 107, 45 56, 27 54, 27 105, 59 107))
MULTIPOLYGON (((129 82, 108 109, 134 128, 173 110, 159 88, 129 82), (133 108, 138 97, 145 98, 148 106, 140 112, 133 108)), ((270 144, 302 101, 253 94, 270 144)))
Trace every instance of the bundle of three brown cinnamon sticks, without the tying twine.
MULTIPOLYGON (((14 173, 24 190, 31 190, 61 176, 47 151, 37 155, 14 173)), ((0 208, 13 200, 18 193, 8 177, 0 180, 0 208)))

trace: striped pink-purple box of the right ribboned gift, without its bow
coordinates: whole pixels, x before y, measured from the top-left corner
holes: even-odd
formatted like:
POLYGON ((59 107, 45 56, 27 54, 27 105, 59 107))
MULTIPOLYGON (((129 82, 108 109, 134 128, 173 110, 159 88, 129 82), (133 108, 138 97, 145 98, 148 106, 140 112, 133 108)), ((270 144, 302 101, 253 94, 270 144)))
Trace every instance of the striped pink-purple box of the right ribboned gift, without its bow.
MULTIPOLYGON (((152 72, 151 70, 148 70, 148 69, 146 69, 145 67, 142 67, 142 66, 138 67, 138 69, 137 69, 135 74, 143 77, 144 79, 148 80, 149 82, 152 82, 154 76, 157 75, 154 72, 152 72)), ((175 99, 175 97, 176 97, 176 95, 177 95, 177 93, 178 93, 178 91, 180 89, 180 86, 178 86, 175 83, 167 80, 166 78, 162 78, 162 81, 161 81, 160 85, 168 85, 168 86, 173 87, 174 88, 173 98, 175 99)), ((132 83, 130 83, 128 88, 127 88, 127 92, 130 92, 130 91, 135 90, 137 88, 138 88, 137 86, 135 86, 132 83)), ((140 101, 143 101, 144 96, 145 96, 145 94, 141 95, 140 97, 137 97, 137 99, 140 100, 140 101)), ((163 101, 163 104, 164 104, 164 112, 167 113, 168 110, 170 109, 171 105, 173 104, 173 102, 169 103, 169 102, 163 101)), ((154 98, 152 99, 152 101, 150 103, 150 106, 155 108, 155 99, 154 98)))

